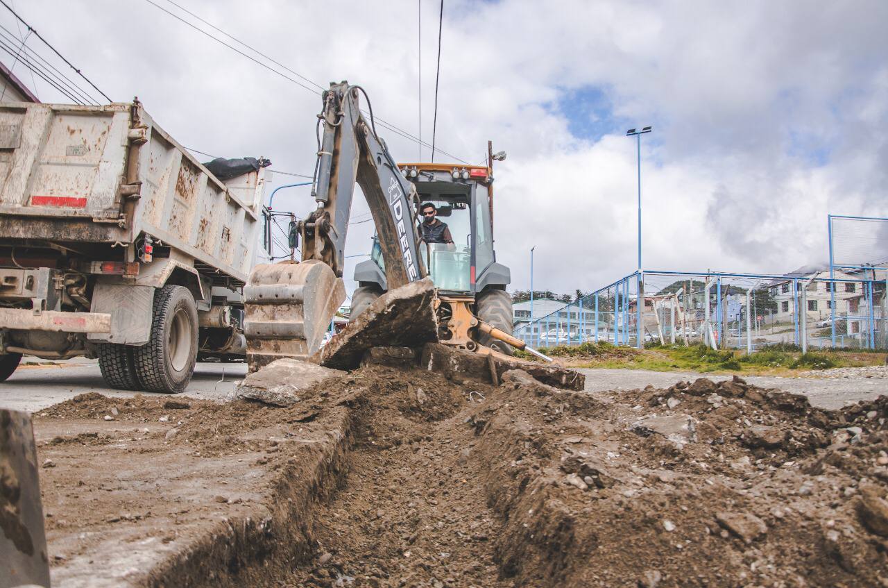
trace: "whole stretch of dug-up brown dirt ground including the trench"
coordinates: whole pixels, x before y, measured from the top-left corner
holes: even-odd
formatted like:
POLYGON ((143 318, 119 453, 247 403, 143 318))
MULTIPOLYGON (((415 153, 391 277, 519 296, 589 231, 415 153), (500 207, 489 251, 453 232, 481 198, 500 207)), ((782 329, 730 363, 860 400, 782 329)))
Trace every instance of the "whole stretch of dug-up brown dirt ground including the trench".
POLYGON ((44 410, 55 584, 116 543, 190 553, 136 585, 888 586, 885 397, 501 377, 371 365, 286 408, 44 410), (195 549, 207 528, 230 537, 195 549))

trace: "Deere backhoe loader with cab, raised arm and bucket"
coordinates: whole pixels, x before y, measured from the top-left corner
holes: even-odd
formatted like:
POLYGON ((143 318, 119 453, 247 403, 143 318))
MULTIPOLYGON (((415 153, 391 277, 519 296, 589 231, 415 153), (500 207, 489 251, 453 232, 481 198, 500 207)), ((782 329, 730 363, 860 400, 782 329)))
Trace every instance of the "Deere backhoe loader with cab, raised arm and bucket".
MULTIPOLYGON (((306 359, 317 351, 345 300, 345 236, 354 186, 361 187, 376 225, 371 259, 355 269, 357 317, 386 290, 431 275, 441 343, 490 353, 524 348, 511 337, 509 268, 493 247, 492 165, 403 163, 377 134, 373 108, 360 86, 331 83, 322 96, 313 197, 316 208, 293 227, 302 262, 257 266, 244 289, 247 362, 255 370, 275 359, 306 359), (367 100, 369 119, 359 106, 367 100), (420 203, 431 202, 454 243, 425 243, 417 230, 420 203)), ((497 154, 502 159, 504 154, 497 154)))

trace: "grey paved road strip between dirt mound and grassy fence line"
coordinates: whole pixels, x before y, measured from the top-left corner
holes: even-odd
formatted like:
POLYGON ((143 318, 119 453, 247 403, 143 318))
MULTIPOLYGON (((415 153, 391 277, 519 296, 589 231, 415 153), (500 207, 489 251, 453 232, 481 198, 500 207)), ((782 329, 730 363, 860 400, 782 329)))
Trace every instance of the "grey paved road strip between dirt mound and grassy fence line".
MULTIPOLYGON (((665 388, 679 380, 694 380, 708 377, 713 381, 730 379, 731 376, 713 376, 693 371, 646 371, 643 369, 589 369, 581 368, 586 375, 586 390, 631 390, 654 385, 665 388)), ((811 399, 812 404, 824 409, 838 409, 845 404, 861 400, 872 400, 881 394, 888 394, 888 379, 885 378, 842 378, 819 379, 813 377, 744 377, 749 384, 763 388, 780 388, 787 392, 801 393, 811 399)))

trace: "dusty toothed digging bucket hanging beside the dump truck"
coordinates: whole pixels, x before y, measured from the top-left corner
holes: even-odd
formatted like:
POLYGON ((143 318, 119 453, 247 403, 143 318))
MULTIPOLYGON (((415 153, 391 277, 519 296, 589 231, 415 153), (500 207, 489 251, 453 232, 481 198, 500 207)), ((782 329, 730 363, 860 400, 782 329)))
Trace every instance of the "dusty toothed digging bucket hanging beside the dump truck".
POLYGON ((305 360, 345 300, 345 284, 317 259, 256 266, 244 287, 247 363, 256 371, 284 357, 305 360))

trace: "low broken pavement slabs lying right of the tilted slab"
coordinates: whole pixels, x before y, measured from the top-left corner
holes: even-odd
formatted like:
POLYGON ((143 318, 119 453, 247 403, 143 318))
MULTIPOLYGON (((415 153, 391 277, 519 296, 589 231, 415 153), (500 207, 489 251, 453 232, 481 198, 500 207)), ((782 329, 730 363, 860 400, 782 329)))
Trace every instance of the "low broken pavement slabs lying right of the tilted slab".
MULTIPOLYGON (((503 378, 505 372, 511 369, 520 369, 526 371, 538 382, 565 390, 583 390, 586 384, 586 377, 573 369, 525 362, 503 354, 494 354, 490 357, 493 358, 496 375, 500 379, 503 378)), ((438 371, 444 377, 455 382, 471 379, 491 383, 492 379, 492 370, 487 355, 472 353, 440 343, 428 343, 423 347, 421 364, 425 369, 438 371)))

